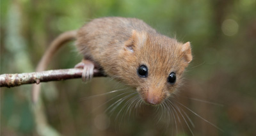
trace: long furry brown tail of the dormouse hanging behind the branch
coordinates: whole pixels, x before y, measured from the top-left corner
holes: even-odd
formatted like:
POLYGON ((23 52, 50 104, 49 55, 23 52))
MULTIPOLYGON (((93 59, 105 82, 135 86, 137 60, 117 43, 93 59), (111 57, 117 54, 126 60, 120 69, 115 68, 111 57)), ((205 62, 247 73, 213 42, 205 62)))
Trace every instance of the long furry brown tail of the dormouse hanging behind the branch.
MULTIPOLYGON (((52 56, 56 53, 60 47, 70 40, 74 40, 76 38, 77 30, 67 31, 65 33, 60 34, 50 45, 49 49, 46 50, 44 56, 38 63, 36 67, 36 72, 42 72, 45 70, 47 65, 52 59, 52 56)), ((38 101, 38 97, 40 94, 40 84, 33 84, 32 88, 32 101, 35 103, 38 101)))

